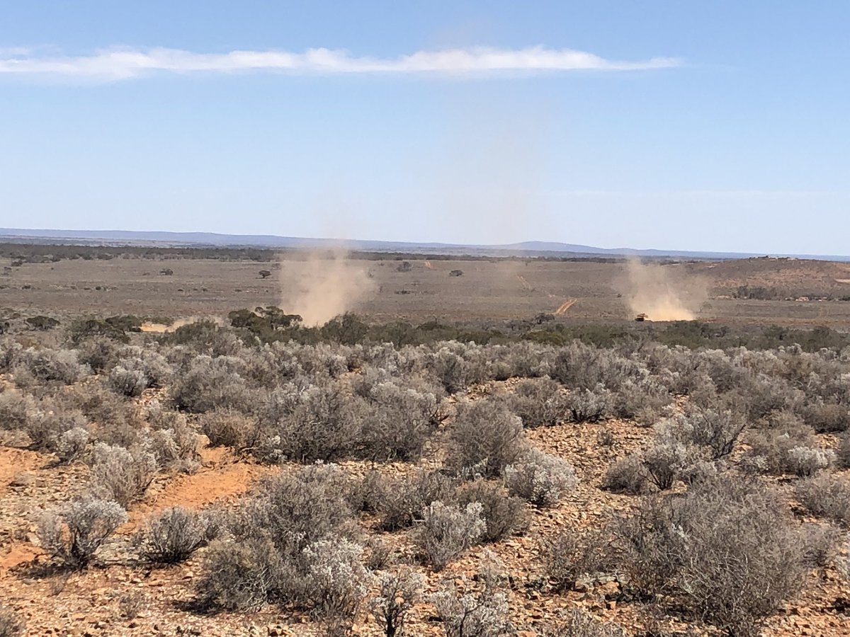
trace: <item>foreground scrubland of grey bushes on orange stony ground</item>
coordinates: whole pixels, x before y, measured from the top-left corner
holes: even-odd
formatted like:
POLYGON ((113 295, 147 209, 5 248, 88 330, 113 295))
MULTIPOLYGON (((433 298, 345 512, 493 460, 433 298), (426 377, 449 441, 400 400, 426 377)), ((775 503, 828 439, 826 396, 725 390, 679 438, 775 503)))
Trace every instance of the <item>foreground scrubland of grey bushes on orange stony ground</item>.
POLYGON ((17 316, 0 635, 847 634, 844 335, 550 323, 17 316))

